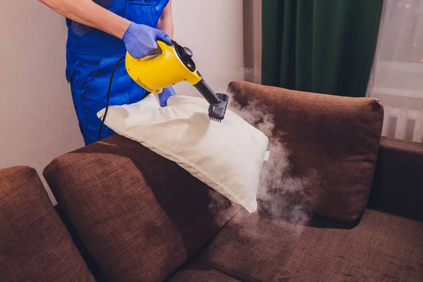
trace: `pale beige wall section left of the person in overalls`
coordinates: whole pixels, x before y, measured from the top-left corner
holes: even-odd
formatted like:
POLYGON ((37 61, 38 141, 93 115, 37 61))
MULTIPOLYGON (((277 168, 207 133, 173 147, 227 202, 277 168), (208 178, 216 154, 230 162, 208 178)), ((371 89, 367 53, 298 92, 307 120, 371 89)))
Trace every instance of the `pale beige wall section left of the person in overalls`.
POLYGON ((27 165, 41 175, 83 145, 63 76, 66 25, 38 1, 1 1, 0 168, 27 165))

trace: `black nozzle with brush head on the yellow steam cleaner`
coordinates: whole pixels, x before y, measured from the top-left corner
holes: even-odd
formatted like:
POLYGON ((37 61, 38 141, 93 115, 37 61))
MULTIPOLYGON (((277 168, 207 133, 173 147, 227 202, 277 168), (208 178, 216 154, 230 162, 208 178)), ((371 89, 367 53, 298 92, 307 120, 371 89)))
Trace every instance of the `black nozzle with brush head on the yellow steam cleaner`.
POLYGON ((213 121, 222 121, 225 117, 226 107, 228 106, 228 95, 221 93, 215 94, 203 79, 194 85, 194 87, 210 104, 209 118, 213 121))

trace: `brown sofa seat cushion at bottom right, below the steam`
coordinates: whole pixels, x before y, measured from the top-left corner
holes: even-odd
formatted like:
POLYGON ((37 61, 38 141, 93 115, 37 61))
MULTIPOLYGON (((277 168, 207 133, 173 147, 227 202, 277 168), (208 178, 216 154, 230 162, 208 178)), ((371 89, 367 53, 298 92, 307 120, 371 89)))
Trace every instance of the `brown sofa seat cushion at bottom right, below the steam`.
POLYGON ((423 281, 423 223, 367 209, 300 227, 240 212, 200 262, 241 281, 423 281))

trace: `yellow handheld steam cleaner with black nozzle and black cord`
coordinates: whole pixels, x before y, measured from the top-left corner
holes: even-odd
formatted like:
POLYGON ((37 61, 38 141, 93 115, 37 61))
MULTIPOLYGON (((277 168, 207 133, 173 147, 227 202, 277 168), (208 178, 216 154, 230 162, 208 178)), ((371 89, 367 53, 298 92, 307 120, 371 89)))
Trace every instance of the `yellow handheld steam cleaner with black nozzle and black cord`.
POLYGON ((109 109, 111 83, 116 68, 125 59, 125 68, 130 77, 150 93, 160 94, 164 88, 176 85, 179 82, 189 82, 209 102, 209 118, 213 121, 222 121, 228 106, 228 95, 214 93, 197 71, 192 61, 192 51, 182 47, 178 42, 171 40, 167 43, 159 39, 158 48, 149 56, 135 59, 127 52, 115 65, 109 82, 106 111, 99 129, 99 140, 102 137, 102 127, 109 109))

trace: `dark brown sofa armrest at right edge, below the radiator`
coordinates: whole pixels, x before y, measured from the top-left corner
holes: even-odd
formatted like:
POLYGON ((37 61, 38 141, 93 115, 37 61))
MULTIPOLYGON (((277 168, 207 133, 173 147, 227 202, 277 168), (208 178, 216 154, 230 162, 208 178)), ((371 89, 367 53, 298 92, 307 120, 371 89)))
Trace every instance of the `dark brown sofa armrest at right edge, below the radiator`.
POLYGON ((382 137, 369 207, 423 221, 423 145, 382 137))

